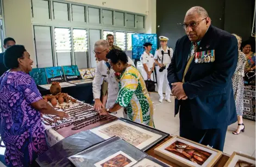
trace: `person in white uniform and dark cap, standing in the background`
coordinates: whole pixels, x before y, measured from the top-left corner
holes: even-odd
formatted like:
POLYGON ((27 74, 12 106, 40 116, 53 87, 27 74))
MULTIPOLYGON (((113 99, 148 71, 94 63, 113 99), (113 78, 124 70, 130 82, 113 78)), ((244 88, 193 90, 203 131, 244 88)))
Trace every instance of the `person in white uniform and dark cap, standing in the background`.
POLYGON ((141 75, 145 81, 148 79, 151 79, 151 81, 154 81, 153 78, 153 71, 155 68, 155 62, 154 62, 154 56, 150 53, 152 49, 152 44, 149 42, 146 42, 143 44, 145 47, 145 51, 140 57, 140 62, 143 64, 143 68, 141 70, 141 75))

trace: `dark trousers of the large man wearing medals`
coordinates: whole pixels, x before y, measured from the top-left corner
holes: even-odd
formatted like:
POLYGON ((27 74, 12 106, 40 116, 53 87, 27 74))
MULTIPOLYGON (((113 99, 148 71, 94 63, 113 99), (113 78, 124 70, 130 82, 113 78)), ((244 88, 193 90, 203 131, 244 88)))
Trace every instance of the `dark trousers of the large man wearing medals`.
POLYGON ((221 129, 198 129, 193 124, 191 110, 188 108, 179 110, 180 131, 179 136, 203 145, 212 146, 223 151, 228 126, 221 129))

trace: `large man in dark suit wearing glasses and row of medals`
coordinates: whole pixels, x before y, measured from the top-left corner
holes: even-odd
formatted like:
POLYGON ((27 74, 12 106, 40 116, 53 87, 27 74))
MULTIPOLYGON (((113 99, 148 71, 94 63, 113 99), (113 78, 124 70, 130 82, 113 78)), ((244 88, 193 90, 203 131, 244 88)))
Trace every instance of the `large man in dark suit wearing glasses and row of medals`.
POLYGON ((232 76, 238 41, 211 25, 200 6, 186 13, 183 27, 186 35, 178 39, 168 67, 180 136, 222 151, 227 127, 236 122, 232 76))

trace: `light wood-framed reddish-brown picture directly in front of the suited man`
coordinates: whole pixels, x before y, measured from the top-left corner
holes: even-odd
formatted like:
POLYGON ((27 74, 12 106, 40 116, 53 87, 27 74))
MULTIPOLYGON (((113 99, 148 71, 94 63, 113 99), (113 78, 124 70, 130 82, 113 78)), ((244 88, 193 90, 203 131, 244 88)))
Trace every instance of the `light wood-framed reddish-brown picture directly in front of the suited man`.
POLYGON ((179 136, 161 144, 154 153, 180 166, 190 167, 214 166, 222 155, 221 151, 179 136))

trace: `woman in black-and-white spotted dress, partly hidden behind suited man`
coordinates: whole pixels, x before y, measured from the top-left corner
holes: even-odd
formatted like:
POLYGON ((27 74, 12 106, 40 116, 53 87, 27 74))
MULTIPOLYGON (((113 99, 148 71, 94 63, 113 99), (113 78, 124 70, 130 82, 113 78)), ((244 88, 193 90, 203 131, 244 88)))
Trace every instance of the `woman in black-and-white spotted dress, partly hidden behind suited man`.
MULTIPOLYGON (((238 48, 241 47, 242 38, 233 34, 238 39, 238 48)), ((243 72, 245 69, 246 57, 243 52, 238 50, 238 65, 235 74, 232 77, 236 114, 238 115, 238 128, 233 131, 234 135, 239 135, 240 131, 245 131, 245 125, 242 122, 243 114, 243 72)))

